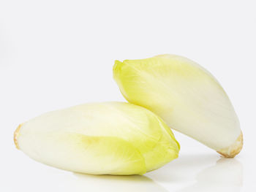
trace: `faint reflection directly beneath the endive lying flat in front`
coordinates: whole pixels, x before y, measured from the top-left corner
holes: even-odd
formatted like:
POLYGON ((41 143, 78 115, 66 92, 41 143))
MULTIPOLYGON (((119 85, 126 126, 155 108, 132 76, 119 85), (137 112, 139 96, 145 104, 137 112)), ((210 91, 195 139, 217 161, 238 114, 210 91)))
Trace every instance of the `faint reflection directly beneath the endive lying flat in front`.
POLYGON ((167 192, 146 176, 89 175, 74 173, 79 191, 167 192))

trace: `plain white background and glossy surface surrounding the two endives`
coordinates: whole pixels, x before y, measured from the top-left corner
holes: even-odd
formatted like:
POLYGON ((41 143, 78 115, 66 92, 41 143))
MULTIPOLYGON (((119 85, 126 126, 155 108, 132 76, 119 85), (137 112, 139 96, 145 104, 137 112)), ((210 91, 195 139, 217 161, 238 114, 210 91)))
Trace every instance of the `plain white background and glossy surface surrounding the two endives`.
POLYGON ((255 1, 0 0, 0 191, 255 191, 255 1), (114 60, 184 55, 221 82, 244 132, 233 159, 175 131, 180 157, 144 176, 74 174, 15 149, 30 118, 124 101, 114 60))

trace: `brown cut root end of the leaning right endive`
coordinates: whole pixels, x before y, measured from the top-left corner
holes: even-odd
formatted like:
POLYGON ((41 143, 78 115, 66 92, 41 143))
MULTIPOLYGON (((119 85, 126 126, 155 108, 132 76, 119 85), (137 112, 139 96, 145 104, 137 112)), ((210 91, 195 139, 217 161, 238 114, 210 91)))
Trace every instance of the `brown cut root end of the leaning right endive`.
POLYGON ((229 147, 226 147, 222 150, 218 150, 217 152, 223 155, 225 158, 233 158, 241 151, 242 147, 243 147, 243 133, 241 131, 241 134, 236 139, 236 142, 234 142, 229 147))

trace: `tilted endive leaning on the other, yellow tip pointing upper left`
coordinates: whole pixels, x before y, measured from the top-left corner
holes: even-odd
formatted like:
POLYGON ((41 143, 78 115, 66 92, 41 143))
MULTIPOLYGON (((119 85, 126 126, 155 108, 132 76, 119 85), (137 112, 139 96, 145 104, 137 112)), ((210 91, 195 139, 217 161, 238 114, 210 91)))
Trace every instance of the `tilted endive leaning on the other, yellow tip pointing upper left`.
POLYGON ((243 137, 230 99, 195 62, 178 55, 116 61, 113 77, 127 101, 155 112, 171 128, 225 157, 240 152, 243 137))

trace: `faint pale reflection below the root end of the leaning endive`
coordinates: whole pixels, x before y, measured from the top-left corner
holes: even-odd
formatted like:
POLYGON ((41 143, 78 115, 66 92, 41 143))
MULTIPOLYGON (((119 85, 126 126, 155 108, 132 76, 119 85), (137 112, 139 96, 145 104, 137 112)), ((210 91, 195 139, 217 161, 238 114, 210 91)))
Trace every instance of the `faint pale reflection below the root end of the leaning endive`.
POLYGON ((217 164, 197 174, 196 183, 178 190, 187 191, 240 191, 243 182, 243 167, 235 158, 220 158, 217 164))

